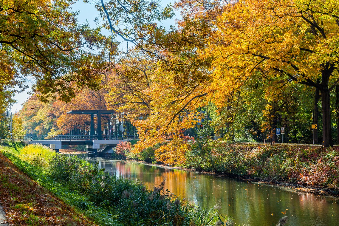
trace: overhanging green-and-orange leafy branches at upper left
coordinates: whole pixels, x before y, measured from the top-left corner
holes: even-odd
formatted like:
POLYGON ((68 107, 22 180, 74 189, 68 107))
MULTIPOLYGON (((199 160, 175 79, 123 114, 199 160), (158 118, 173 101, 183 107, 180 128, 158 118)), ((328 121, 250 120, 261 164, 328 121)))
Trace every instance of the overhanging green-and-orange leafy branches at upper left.
POLYGON ((99 87, 107 67, 107 49, 116 45, 91 29, 79 25, 70 0, 0 0, 1 107, 11 102, 15 88, 33 90, 40 100, 70 101, 75 89, 99 87), (108 48, 109 47, 109 48, 108 48))

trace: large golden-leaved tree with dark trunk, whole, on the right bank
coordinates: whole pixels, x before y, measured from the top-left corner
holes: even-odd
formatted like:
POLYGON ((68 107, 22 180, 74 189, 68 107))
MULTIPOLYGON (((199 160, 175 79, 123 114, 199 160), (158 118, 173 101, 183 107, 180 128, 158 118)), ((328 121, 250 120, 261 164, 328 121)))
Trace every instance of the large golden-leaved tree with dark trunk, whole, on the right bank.
MULTIPOLYGON (((213 55, 217 90, 234 90, 254 73, 318 88, 323 145, 332 145, 330 92, 338 81, 336 1, 245 0, 225 4, 206 55, 213 55), (221 44, 222 43, 222 44, 221 44), (317 80, 319 79, 319 83, 317 80)), ((214 85, 212 83, 212 85, 214 85)))

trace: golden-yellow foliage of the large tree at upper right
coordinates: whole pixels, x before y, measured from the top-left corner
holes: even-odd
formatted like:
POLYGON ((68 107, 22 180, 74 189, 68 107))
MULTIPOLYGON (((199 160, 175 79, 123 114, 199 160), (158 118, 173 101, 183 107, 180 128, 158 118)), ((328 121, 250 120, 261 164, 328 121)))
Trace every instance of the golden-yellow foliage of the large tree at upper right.
MULTIPOLYGON (((219 56, 213 62, 213 67, 226 65, 228 72, 234 68, 236 74, 243 73, 246 76, 247 73, 253 73, 254 68, 266 71, 276 67, 296 77, 299 73, 311 74, 312 78, 318 76, 318 72, 311 68, 317 65, 316 61, 319 62, 319 59, 325 62, 334 60, 330 56, 334 53, 334 48, 338 46, 330 47, 326 44, 317 48, 319 45, 317 43, 322 43, 324 40, 320 35, 308 35, 310 24, 301 18, 298 10, 306 5, 305 2, 248 0, 226 6, 224 12, 216 19, 218 29, 215 36, 211 38, 211 40, 219 40, 219 45, 213 45, 212 41, 208 41, 209 44, 212 43, 209 45, 211 48, 209 53, 219 56), (313 50, 314 53, 301 51, 300 48, 313 50), (318 53, 321 53, 320 56, 318 53), (253 54, 269 59, 258 63, 263 58, 253 56, 253 54), (310 55, 314 55, 314 58, 310 55), (291 58, 293 65, 299 68, 298 71, 295 71, 289 63, 291 58)), ((323 4, 319 1, 312 1, 312 7, 321 8, 323 4)), ((323 10, 324 8, 321 8, 319 12, 323 10)), ((314 15, 315 20, 319 24, 320 22, 324 24, 324 28, 332 29, 328 31, 328 37, 331 34, 338 34, 338 26, 333 19, 327 18, 326 23, 323 23, 325 18, 319 15, 314 15), (329 24, 334 26, 328 26, 329 24)), ((336 42, 330 41, 330 43, 336 42)), ((218 69, 214 73, 218 76, 218 69)), ((233 77, 233 71, 229 74, 233 77)))

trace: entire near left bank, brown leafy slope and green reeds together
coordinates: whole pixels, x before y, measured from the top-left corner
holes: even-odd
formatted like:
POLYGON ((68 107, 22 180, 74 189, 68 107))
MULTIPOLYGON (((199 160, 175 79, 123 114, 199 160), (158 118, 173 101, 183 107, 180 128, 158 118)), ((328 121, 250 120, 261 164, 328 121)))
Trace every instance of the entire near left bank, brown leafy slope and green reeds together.
POLYGON ((60 225, 234 225, 218 214, 217 205, 210 210, 193 206, 164 190, 165 182, 148 190, 142 182, 112 177, 98 165, 40 145, 11 144, 0 150, 4 168, 13 168, 1 171, 0 202, 15 225, 48 225, 50 216, 60 225), (16 185, 15 178, 22 177, 16 185), (33 196, 37 200, 28 203, 33 196), (39 201, 41 196, 50 203, 39 201), (60 206, 49 210, 55 202, 60 206))

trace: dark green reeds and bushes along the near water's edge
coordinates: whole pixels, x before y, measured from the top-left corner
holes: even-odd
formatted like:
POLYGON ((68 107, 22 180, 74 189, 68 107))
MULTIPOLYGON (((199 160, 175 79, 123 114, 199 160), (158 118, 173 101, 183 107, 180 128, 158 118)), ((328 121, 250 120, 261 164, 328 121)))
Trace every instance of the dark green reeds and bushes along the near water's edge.
POLYGON ((217 210, 202 210, 160 187, 148 190, 143 183, 110 176, 98 165, 74 156, 57 155, 49 175, 91 202, 112 211, 126 225, 206 225, 220 220, 217 210))

